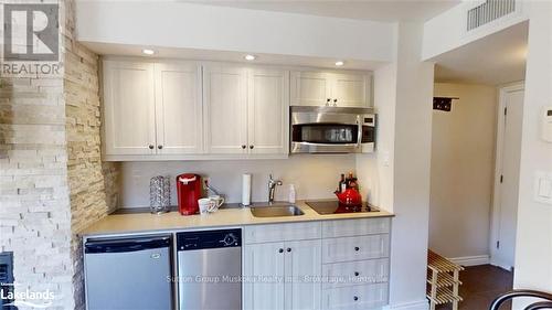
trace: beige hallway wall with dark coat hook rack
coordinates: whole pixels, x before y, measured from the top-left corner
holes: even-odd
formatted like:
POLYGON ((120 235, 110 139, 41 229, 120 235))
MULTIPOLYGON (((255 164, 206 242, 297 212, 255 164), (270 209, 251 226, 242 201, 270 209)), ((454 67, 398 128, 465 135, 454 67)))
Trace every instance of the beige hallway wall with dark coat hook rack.
POLYGON ((433 111, 429 248, 446 257, 489 255, 497 89, 436 83, 437 97, 458 97, 433 111))

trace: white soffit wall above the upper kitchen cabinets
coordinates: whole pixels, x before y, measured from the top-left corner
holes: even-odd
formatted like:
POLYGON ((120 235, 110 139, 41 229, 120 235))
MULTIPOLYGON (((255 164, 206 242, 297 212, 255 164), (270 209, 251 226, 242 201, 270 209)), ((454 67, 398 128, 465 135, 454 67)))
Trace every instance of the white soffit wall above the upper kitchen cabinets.
POLYGON ((76 14, 81 42, 381 62, 394 51, 385 22, 182 1, 81 0, 76 14))

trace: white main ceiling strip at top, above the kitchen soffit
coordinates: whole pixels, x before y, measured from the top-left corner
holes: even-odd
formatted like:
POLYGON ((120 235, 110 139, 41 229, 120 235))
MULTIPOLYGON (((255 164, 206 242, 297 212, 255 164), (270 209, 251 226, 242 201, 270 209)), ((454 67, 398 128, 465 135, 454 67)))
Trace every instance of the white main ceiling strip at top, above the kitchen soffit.
POLYGON ((374 21, 426 21, 460 0, 181 0, 208 6, 374 21))

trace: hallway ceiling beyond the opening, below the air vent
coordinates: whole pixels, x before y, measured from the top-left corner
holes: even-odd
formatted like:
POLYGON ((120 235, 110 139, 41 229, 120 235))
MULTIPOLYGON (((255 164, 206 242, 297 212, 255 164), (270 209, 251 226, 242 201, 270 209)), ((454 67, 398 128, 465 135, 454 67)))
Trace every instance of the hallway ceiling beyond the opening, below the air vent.
POLYGON ((528 22, 438 55, 436 82, 500 85, 526 77, 528 22))

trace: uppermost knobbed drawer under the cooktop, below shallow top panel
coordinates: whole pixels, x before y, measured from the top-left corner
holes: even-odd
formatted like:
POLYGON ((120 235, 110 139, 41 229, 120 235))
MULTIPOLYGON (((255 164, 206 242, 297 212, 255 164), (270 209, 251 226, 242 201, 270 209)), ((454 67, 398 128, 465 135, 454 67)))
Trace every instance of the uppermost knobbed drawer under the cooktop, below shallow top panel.
POLYGON ((322 263, 338 263, 389 256, 389 235, 322 239, 322 263))

